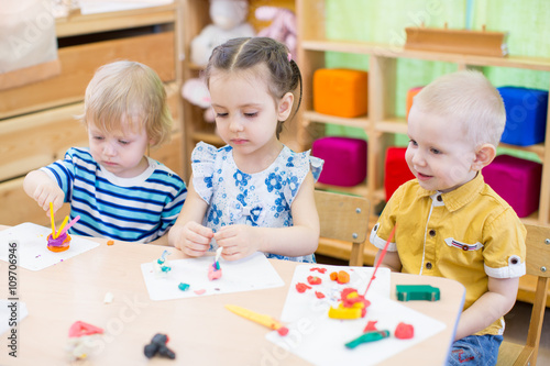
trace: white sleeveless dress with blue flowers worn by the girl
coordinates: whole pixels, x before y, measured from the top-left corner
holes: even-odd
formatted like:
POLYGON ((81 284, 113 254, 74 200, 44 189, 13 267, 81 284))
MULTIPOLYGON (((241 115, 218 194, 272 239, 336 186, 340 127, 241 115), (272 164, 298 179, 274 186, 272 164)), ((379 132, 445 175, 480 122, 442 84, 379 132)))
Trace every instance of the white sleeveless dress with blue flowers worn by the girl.
MULTIPOLYGON (((193 186, 208 203, 204 225, 215 232, 221 226, 246 224, 262 228, 293 225, 290 206, 311 170, 319 178, 323 160, 295 153, 284 146, 275 162, 263 171, 246 174, 233 160, 233 148, 217 148, 200 142, 191 154, 193 186)), ((218 247, 215 241, 210 251, 218 247)), ((315 256, 288 257, 264 253, 268 258, 315 263, 315 256)))

